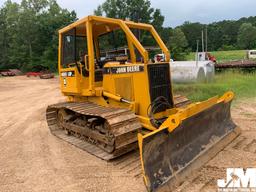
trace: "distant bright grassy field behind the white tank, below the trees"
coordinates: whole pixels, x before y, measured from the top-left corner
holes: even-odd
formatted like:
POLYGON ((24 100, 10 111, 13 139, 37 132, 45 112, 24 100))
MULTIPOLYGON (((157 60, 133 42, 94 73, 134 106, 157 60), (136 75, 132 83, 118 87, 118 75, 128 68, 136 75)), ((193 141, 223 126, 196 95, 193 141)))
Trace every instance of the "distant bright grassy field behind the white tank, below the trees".
MULTIPOLYGON (((210 52, 215 56, 218 63, 231 61, 231 60, 241 60, 246 59, 245 50, 233 50, 233 51, 213 51, 210 52)), ((195 53, 191 52, 187 55, 186 60, 195 60, 195 53)))

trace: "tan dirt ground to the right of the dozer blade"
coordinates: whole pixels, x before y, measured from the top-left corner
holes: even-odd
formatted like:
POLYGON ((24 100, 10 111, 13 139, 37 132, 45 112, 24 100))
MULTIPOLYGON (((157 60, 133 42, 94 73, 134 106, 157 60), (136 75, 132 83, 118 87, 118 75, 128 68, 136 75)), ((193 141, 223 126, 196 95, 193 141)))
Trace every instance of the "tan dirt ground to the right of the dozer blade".
POLYGON ((236 101, 232 118, 242 134, 175 192, 216 192, 217 180, 226 180, 226 168, 256 167, 256 98, 236 101))

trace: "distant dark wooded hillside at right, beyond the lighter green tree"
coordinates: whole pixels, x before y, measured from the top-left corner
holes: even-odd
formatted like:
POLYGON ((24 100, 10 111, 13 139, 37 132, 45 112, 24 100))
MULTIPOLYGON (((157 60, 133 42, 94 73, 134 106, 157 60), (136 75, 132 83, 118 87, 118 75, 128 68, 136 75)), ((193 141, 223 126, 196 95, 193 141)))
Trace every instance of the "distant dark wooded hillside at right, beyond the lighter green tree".
POLYGON ((224 20, 208 25, 185 22, 178 28, 185 34, 188 47, 193 51, 196 50, 196 41, 201 40, 201 31, 206 28, 210 51, 256 48, 256 17, 224 20))

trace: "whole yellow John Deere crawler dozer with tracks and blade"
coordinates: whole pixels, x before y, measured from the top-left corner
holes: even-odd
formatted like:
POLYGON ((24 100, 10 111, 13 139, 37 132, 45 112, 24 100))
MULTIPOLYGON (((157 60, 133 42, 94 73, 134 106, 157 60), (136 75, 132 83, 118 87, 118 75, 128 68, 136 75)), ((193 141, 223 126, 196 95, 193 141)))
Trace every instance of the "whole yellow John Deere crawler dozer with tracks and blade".
POLYGON ((148 24, 88 16, 61 29, 58 68, 67 102, 48 106, 51 133, 104 160, 139 147, 147 189, 169 191, 239 134, 232 92, 175 105, 169 60, 148 24), (164 61, 150 59, 137 38, 146 33, 164 61), (116 37, 127 48, 113 47, 116 37))

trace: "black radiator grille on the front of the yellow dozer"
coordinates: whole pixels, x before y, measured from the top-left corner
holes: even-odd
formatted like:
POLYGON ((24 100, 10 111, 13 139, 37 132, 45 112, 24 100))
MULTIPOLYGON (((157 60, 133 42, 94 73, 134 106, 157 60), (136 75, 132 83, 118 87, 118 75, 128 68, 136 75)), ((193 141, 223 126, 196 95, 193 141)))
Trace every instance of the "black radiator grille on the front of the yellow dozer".
MULTIPOLYGON (((157 97, 163 96, 173 107, 169 63, 148 65, 148 77, 151 102, 157 97)), ((156 112, 163 110, 165 110, 164 106, 156 112)))

